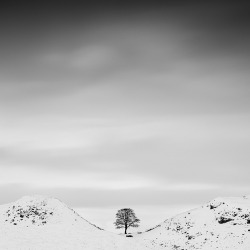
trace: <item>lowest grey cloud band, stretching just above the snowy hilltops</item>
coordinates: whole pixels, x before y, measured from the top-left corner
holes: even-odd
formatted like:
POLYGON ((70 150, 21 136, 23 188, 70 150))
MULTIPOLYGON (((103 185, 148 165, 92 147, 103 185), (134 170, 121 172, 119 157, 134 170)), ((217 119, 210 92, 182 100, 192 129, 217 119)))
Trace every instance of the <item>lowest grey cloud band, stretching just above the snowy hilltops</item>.
POLYGON ((3 184, 0 188, 1 203, 12 202, 24 195, 43 194, 57 197, 71 207, 120 207, 120 206, 171 206, 203 204, 218 196, 242 196, 249 187, 235 189, 230 185, 221 189, 161 190, 135 188, 114 190, 95 188, 36 187, 27 184, 3 184), (8 192, 6 192, 8 190, 8 192))

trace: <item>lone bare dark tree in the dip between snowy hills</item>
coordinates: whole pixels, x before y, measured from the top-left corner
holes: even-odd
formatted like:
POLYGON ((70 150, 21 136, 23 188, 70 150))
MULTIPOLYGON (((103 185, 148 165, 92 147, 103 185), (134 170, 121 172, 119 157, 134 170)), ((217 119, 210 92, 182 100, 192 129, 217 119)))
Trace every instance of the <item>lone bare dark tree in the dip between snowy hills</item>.
POLYGON ((131 208, 122 208, 116 213, 114 222, 117 229, 125 228, 125 234, 129 227, 139 227, 140 220, 136 217, 134 210, 131 208))

